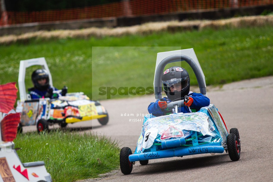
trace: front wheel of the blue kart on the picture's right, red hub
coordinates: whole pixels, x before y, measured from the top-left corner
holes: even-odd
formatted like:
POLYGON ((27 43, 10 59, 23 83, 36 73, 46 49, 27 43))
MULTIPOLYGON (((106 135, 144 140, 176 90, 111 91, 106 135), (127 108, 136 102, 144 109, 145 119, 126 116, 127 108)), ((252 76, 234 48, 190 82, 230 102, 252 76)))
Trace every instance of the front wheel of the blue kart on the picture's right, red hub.
POLYGON ((228 147, 228 155, 232 161, 237 161, 240 159, 241 146, 239 144, 239 139, 234 133, 230 133, 226 138, 226 144, 228 147))

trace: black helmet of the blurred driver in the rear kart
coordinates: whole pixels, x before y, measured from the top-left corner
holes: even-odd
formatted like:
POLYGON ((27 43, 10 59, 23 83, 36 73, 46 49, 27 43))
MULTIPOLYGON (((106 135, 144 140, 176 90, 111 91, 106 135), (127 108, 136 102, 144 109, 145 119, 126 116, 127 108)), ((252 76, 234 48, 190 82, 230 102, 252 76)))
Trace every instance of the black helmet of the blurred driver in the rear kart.
POLYGON ((45 90, 49 86, 49 77, 48 77, 48 73, 45 69, 37 69, 37 70, 33 71, 33 73, 31 74, 31 80, 32 80, 34 87, 37 88, 38 90, 45 90), (37 80, 41 79, 41 78, 46 79, 46 83, 44 85, 40 85, 37 82, 37 80))

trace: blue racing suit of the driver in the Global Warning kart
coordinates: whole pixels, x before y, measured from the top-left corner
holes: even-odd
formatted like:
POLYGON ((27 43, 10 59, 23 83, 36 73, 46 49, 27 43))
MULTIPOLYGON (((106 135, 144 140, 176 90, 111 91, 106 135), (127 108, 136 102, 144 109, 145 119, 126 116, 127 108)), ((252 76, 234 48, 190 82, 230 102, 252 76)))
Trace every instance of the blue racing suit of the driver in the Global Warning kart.
MULTIPOLYGON (((205 107, 209 105, 209 98, 204 96, 201 93, 189 92, 189 97, 193 98, 193 103, 190 107, 183 106, 178 108, 178 113, 189 113, 191 112, 190 108, 195 108, 196 111, 199 111, 201 107, 205 107)), ((163 98, 167 103, 171 102, 171 100, 167 97, 163 98)), ((158 99, 159 100, 159 99, 158 99)), ((153 114, 154 116, 162 116, 165 114, 165 109, 160 109, 158 106, 158 100, 155 102, 151 102, 148 106, 148 112, 153 114)))

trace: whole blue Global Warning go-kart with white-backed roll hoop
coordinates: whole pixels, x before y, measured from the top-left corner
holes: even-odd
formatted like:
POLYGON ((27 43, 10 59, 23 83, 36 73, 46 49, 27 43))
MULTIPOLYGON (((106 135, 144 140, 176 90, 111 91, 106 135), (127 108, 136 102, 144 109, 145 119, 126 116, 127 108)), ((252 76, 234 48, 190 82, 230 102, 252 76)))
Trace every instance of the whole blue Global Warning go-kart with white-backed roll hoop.
MULTIPOLYGON (((185 49, 158 53, 154 77, 155 99, 161 98, 161 75, 165 66, 180 61, 191 66, 200 92, 207 96, 204 74, 196 55, 193 49, 185 49)), ((192 113, 177 113, 180 106, 184 106, 184 99, 167 104, 168 110, 175 109, 174 114, 144 116, 134 154, 129 147, 123 147, 120 151, 123 174, 130 174, 136 161, 147 165, 150 159, 206 153, 213 155, 226 151, 232 161, 239 160, 241 146, 238 129, 231 128, 228 133, 222 116, 213 104, 192 113)))

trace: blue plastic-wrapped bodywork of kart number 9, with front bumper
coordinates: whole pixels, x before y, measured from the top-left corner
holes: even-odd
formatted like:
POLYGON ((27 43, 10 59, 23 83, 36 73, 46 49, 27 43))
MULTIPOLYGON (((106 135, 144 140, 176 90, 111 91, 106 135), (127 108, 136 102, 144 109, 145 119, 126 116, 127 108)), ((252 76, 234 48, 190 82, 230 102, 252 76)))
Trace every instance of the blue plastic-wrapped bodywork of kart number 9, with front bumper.
POLYGON ((159 117, 150 114, 145 116, 135 152, 129 156, 129 160, 134 162, 193 154, 223 153, 227 135, 228 131, 213 104, 195 113, 159 117))

